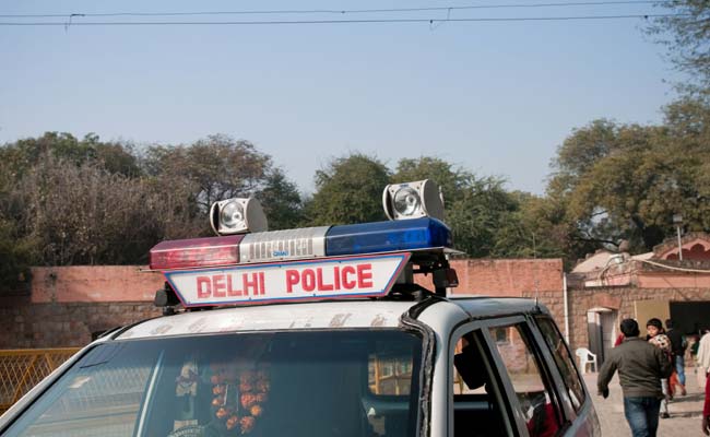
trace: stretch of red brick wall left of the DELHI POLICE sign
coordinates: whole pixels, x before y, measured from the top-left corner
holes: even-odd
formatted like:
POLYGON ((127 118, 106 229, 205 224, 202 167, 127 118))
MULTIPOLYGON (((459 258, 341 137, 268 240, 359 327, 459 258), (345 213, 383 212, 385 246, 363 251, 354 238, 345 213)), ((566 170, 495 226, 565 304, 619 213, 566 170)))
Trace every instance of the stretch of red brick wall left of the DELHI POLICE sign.
POLYGON ((163 275, 142 270, 33 268, 29 295, 0 297, 0 349, 83 346, 93 333, 158 316, 163 275))

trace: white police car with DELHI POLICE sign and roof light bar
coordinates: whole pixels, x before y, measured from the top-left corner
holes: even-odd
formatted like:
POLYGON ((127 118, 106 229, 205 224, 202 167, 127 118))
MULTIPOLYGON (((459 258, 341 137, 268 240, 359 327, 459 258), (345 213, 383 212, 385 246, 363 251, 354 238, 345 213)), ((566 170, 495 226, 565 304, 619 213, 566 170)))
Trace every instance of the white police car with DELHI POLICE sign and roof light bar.
POLYGON ((544 306, 447 293, 438 188, 389 186, 383 205, 391 221, 268 232, 256 200, 215 203, 218 236, 151 250, 164 316, 86 346, 1 434, 599 435, 544 306))

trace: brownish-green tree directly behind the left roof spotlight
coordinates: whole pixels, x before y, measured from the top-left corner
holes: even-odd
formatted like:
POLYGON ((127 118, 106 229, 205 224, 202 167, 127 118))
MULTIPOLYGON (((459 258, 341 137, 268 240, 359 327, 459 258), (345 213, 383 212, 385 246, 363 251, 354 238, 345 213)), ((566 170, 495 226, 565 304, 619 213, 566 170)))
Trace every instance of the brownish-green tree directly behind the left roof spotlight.
POLYGON ((186 231, 210 235, 210 206, 234 197, 258 198, 270 229, 295 227, 301 221, 296 186, 248 141, 217 134, 190 145, 154 145, 145 151, 142 165, 166 199, 168 238, 185 238, 186 231))

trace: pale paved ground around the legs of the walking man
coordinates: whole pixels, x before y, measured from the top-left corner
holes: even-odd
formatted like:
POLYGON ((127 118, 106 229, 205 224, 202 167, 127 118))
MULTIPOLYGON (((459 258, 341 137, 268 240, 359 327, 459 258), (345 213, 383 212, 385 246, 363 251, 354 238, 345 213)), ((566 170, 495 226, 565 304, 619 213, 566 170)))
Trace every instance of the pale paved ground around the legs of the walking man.
MULTIPOLYGON (((686 369, 686 385, 688 394, 678 395, 668 404, 670 418, 661 418, 659 425, 659 437, 681 436, 694 437, 703 436, 700 430, 702 414, 703 391, 697 383, 693 368, 686 369)), ((610 385, 610 397, 603 399, 596 395, 596 374, 584 375, 584 382, 592 393, 592 400, 596 414, 602 425, 604 437, 628 437, 631 429, 624 417, 624 401, 622 399, 622 387, 614 376, 610 385)))

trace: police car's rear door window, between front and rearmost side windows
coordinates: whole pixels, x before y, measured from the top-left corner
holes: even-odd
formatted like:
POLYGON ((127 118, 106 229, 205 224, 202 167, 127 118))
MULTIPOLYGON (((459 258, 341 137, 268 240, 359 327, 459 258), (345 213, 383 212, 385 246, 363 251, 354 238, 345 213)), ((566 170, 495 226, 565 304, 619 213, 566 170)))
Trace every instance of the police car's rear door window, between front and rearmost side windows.
POLYGON ((528 432, 533 437, 556 435, 560 428, 560 412, 551 385, 541 371, 528 330, 522 323, 510 324, 490 328, 490 335, 495 339, 500 329, 508 331, 508 341, 496 341, 495 344, 518 397, 528 432))

